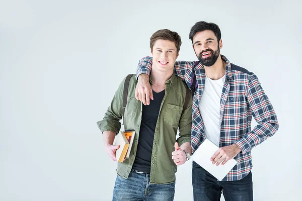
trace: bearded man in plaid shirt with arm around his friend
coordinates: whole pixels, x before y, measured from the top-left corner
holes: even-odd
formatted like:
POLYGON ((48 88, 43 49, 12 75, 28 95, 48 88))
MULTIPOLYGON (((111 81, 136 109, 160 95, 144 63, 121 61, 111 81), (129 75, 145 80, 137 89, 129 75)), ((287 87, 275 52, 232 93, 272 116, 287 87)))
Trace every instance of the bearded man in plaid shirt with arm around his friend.
MULTIPOLYGON (((222 40, 216 24, 197 22, 190 31, 193 49, 199 60, 177 61, 176 74, 190 87, 195 71, 198 87, 193 98, 192 152, 205 138, 220 148, 209 160, 224 165, 235 158, 238 163, 218 181, 193 161, 194 200, 253 200, 251 150, 278 130, 277 117, 257 76, 220 55, 222 40), (258 125, 251 131, 252 116, 258 125)), ((146 83, 152 58, 138 65, 136 98, 149 104, 153 94, 146 83), (145 73, 145 74, 142 74, 145 73)))

